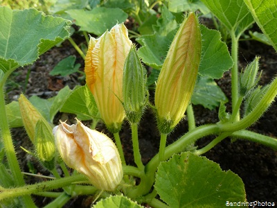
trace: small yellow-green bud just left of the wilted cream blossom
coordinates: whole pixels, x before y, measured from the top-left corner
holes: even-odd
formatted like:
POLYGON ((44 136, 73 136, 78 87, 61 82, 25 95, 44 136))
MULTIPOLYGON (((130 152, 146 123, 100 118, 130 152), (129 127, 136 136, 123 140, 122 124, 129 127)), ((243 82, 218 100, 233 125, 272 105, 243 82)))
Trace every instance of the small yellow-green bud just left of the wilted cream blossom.
POLYGON ((34 145, 39 162, 48 170, 53 170, 56 155, 54 135, 51 125, 40 119, 35 125, 34 145))

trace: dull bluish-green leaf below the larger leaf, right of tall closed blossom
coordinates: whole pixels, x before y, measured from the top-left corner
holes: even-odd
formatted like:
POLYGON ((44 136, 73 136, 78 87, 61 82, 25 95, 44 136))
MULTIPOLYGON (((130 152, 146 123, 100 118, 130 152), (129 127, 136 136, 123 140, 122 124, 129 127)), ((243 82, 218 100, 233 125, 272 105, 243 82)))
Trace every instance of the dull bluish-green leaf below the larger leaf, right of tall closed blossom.
POLYGON ((225 94, 213 79, 199 76, 191 98, 194 105, 203 105, 213 110, 220 105, 220 102, 226 103, 227 101, 225 94))

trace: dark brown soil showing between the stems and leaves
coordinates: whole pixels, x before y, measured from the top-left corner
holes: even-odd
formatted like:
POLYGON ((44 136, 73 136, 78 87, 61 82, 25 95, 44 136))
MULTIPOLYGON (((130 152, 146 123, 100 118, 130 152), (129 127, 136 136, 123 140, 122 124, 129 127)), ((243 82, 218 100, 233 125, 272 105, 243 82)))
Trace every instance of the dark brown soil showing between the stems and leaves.
MULTIPOLYGON (((76 41, 82 41, 82 37, 76 36, 76 41)), ((49 76, 49 71, 55 67, 55 64, 62 60, 62 58, 68 55, 75 54, 77 56, 77 62, 82 64, 84 62, 82 58, 75 52, 69 42, 64 42, 61 47, 51 49, 42 55, 35 64, 24 69, 17 70, 11 77, 10 83, 8 83, 8 102, 17 100, 19 94, 24 91, 24 83, 26 82, 26 76, 28 69, 30 70, 30 76, 28 78, 28 84, 26 85, 26 96, 38 95, 42 98, 48 98, 55 96, 62 87, 69 85, 71 89, 75 85, 84 85, 84 80, 78 73, 74 73, 70 76, 49 76), (13 85, 12 83, 19 83, 19 85, 13 85), (23 86, 23 87, 22 87, 23 86)), ((276 76, 276 63, 277 55, 271 46, 261 44, 259 42, 247 41, 240 43, 240 68, 245 67, 247 63, 251 62, 255 55, 260 56, 260 69, 262 69, 262 78, 260 85, 265 85, 276 76)), ((230 73, 226 72, 224 77, 220 80, 216 80, 218 85, 222 88, 229 101, 231 101, 231 79, 230 73)), ((227 110, 230 110, 230 103, 227 105, 227 110)), ((195 119, 197 126, 205 123, 216 123, 217 110, 207 110, 201 105, 193 106, 195 110, 195 119)), ((59 113, 56 116, 55 121, 59 119, 73 121, 73 115, 67 115, 59 113)), ((55 123, 57 124, 57 123, 55 123)), ((261 133, 262 135, 268 135, 271 137, 277 137, 277 106, 274 103, 271 108, 265 113, 262 118, 255 123, 249 130, 261 133)), ((99 124, 97 129, 104 131, 105 125, 99 124)), ((188 131, 188 124, 186 119, 182 121, 175 131, 168 137, 168 144, 177 140, 181 135, 184 135, 188 131)), ((26 136, 26 133, 22 128, 12 130, 12 135, 15 139, 15 146, 17 148, 17 157, 22 165, 22 171, 29 172, 30 164, 33 164, 34 171, 36 173, 49 175, 47 171, 42 171, 41 166, 35 161, 33 157, 26 156, 19 146, 23 146, 27 149, 32 149, 30 141, 26 136)), ((111 136, 111 135, 110 135, 111 136)), ((112 136, 111 136, 112 137, 112 136)), ((120 137, 122 139, 123 148, 125 150, 125 157, 127 164, 134 164, 132 156, 132 141, 131 131, 129 124, 123 123, 123 128, 120 131, 120 137)), ((197 145, 202 147, 208 144, 214 137, 206 137, 199 139, 197 145)), ((141 155, 143 163, 147 163, 159 149, 159 133, 157 132, 156 121, 151 110, 146 110, 139 126, 139 143, 141 148, 141 155)), ((260 202, 277 202, 277 152, 267 146, 253 143, 251 141, 224 139, 220 144, 217 144, 215 148, 208 151, 205 154, 208 159, 213 160, 220 164, 223 170, 231 170, 237 173, 245 184, 247 193, 247 200, 260 201, 260 202)), ((34 177, 26 177, 26 181, 30 183, 37 182, 34 177)), ((38 206, 42 206, 48 200, 45 198, 37 197, 36 202, 38 206)), ((71 201, 66 207, 86 207, 86 198, 78 198, 71 201)))

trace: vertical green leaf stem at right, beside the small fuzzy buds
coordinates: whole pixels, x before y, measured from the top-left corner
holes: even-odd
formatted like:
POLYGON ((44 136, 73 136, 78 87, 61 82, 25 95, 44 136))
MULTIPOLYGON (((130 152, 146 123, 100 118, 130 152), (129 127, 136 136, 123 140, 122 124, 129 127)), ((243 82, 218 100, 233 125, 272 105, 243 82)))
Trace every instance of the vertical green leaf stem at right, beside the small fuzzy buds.
MULTIPOLYGON (((233 58, 233 67, 231 69, 231 94, 232 94, 232 112, 235 112, 235 105, 238 103, 238 37, 235 36, 235 31, 231 31, 231 56, 233 58)), ((233 115, 234 121, 240 120, 240 112, 235 112, 233 115)))

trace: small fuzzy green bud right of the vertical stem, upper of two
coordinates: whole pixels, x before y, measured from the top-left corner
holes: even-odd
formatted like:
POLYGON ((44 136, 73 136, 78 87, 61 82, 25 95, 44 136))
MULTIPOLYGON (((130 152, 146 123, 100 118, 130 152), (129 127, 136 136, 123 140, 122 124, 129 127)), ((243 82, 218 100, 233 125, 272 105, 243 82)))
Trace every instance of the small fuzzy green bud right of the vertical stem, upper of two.
POLYGON ((253 87, 256 87, 258 84, 259 78, 257 78, 257 73, 259 70, 259 59, 260 58, 256 57, 240 75, 241 96, 245 96, 251 89, 253 89, 253 87))

